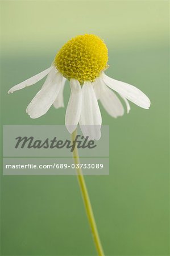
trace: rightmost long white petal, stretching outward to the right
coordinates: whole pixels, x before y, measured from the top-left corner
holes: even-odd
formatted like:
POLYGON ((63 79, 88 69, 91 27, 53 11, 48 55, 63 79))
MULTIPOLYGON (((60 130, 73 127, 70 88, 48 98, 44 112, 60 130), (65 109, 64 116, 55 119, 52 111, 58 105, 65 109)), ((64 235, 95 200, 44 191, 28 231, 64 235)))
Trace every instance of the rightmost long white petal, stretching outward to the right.
POLYGON ((130 100, 131 102, 140 106, 141 108, 150 108, 150 99, 135 86, 127 84, 126 82, 121 82, 112 79, 111 77, 106 76, 105 73, 103 73, 103 81, 111 89, 122 94, 122 96, 127 98, 127 100, 130 100))

